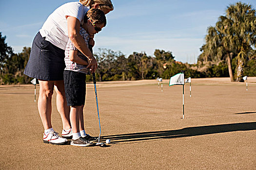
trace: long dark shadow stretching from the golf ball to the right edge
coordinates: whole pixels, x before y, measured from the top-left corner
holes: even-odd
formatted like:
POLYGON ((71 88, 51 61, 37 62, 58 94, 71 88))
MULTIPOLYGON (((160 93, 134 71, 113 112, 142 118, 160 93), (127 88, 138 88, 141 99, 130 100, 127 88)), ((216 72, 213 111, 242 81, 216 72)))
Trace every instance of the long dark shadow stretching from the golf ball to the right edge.
POLYGON ((122 143, 122 142, 136 142, 136 141, 146 141, 146 140, 152 140, 152 139, 168 139, 168 138, 177 138, 177 137, 200 136, 200 135, 208 135, 208 134, 219 134, 219 133, 225 133, 225 132, 251 131, 251 130, 256 130, 256 122, 197 126, 197 127, 188 127, 188 128, 178 129, 178 130, 118 134, 118 135, 110 135, 110 136, 102 136, 102 137, 104 139, 106 138, 110 139, 111 143, 115 144, 115 143, 122 143))

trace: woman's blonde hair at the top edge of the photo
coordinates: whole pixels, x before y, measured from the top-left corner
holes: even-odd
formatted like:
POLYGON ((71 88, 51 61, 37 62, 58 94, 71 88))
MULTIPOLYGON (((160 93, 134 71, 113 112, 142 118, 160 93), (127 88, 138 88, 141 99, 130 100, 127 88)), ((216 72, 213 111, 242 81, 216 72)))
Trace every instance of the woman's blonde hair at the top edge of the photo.
POLYGON ((94 4, 98 3, 101 9, 108 9, 110 11, 114 10, 111 0, 79 0, 79 2, 84 6, 90 6, 90 8, 92 8, 94 4))

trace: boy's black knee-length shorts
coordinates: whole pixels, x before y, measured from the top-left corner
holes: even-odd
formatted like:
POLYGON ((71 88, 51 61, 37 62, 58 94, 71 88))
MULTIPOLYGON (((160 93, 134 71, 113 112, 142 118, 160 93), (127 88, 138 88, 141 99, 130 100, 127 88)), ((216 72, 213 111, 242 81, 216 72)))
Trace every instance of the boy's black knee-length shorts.
POLYGON ((64 70, 65 94, 68 106, 81 106, 85 103, 86 74, 64 70))

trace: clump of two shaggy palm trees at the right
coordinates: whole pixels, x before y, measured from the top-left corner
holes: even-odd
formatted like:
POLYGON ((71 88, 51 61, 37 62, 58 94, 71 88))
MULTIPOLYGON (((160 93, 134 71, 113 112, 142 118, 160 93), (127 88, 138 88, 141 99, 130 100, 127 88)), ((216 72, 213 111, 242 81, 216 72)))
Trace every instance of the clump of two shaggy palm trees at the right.
POLYGON ((217 64, 225 59, 228 64, 231 81, 233 56, 236 58, 236 81, 243 81, 242 72, 246 58, 256 47, 256 11, 251 5, 237 2, 226 10, 226 16, 220 16, 215 27, 208 28, 206 44, 201 47, 200 61, 210 60, 217 64), (203 59, 202 59, 203 58, 203 59))

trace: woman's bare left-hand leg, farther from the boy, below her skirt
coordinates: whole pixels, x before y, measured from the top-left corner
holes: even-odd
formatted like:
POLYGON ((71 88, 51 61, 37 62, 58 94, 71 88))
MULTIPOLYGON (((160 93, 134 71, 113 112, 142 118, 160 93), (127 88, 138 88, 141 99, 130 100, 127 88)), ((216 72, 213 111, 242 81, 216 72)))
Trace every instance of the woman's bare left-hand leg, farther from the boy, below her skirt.
POLYGON ((42 120, 44 130, 52 128, 52 95, 54 81, 39 80, 38 111, 42 120))

